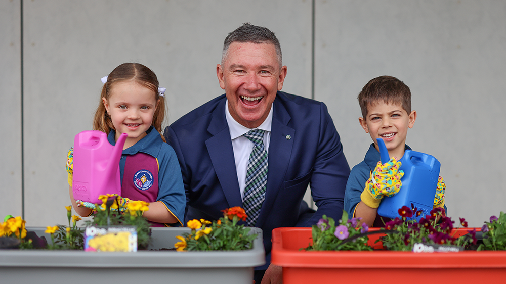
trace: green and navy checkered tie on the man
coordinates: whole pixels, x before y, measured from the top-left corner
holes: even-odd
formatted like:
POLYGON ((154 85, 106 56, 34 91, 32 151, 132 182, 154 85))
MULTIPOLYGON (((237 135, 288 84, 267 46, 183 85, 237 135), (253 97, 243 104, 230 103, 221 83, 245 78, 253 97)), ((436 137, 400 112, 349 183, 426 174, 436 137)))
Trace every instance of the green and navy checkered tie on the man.
POLYGON ((265 199, 265 187, 267 184, 267 151, 264 145, 264 130, 254 129, 243 135, 248 138, 255 147, 249 154, 246 172, 246 187, 244 188, 244 201, 242 202, 248 226, 257 223, 260 208, 265 199))

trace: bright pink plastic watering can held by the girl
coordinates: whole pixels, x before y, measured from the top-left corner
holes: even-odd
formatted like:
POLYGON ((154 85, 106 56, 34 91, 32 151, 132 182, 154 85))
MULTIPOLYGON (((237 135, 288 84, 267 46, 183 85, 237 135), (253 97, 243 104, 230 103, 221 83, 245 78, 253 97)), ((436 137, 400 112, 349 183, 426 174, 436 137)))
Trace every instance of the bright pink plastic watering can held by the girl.
POLYGON ((98 203, 100 195, 121 195, 119 159, 126 136, 122 133, 112 146, 102 131, 82 131, 75 135, 72 177, 75 200, 98 203))

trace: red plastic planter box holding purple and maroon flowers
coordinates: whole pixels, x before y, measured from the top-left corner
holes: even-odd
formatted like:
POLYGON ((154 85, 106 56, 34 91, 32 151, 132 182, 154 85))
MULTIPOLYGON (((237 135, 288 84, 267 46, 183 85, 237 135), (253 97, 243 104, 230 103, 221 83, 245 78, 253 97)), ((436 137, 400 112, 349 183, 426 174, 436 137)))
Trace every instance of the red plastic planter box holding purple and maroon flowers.
MULTIPOLYGON (((456 235, 469 228, 456 229, 456 235)), ((370 235, 373 244, 379 235, 370 235)), ((413 253, 395 251, 300 251, 311 239, 311 228, 272 231, 273 264, 283 267, 283 281, 293 283, 482 283, 506 281, 506 252, 462 251, 413 253), (444 282, 442 282, 444 283, 444 282)))

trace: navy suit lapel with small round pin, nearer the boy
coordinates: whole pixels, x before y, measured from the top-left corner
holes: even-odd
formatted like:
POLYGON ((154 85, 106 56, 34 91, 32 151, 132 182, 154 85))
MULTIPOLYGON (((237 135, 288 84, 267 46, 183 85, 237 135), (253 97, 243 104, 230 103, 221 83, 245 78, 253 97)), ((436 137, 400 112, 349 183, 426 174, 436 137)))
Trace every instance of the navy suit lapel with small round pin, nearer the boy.
POLYGON ((274 200, 282 186, 290 162, 293 137, 295 137, 296 134, 295 129, 287 126, 290 121, 289 114, 286 112, 283 105, 280 103, 276 104, 276 101, 274 101, 271 140, 269 144, 267 189, 265 200, 257 220, 257 227, 262 227, 267 216, 269 216, 274 200))

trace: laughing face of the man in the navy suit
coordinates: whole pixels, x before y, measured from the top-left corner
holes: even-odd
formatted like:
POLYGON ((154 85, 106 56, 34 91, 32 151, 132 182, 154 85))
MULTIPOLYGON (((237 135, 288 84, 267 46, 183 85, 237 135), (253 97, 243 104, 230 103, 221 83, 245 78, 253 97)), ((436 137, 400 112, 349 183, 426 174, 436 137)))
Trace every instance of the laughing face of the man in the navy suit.
POLYGON ((267 118, 286 76, 286 66, 279 66, 274 44, 232 42, 222 64, 217 65, 216 73, 230 114, 245 127, 258 127, 267 118))

